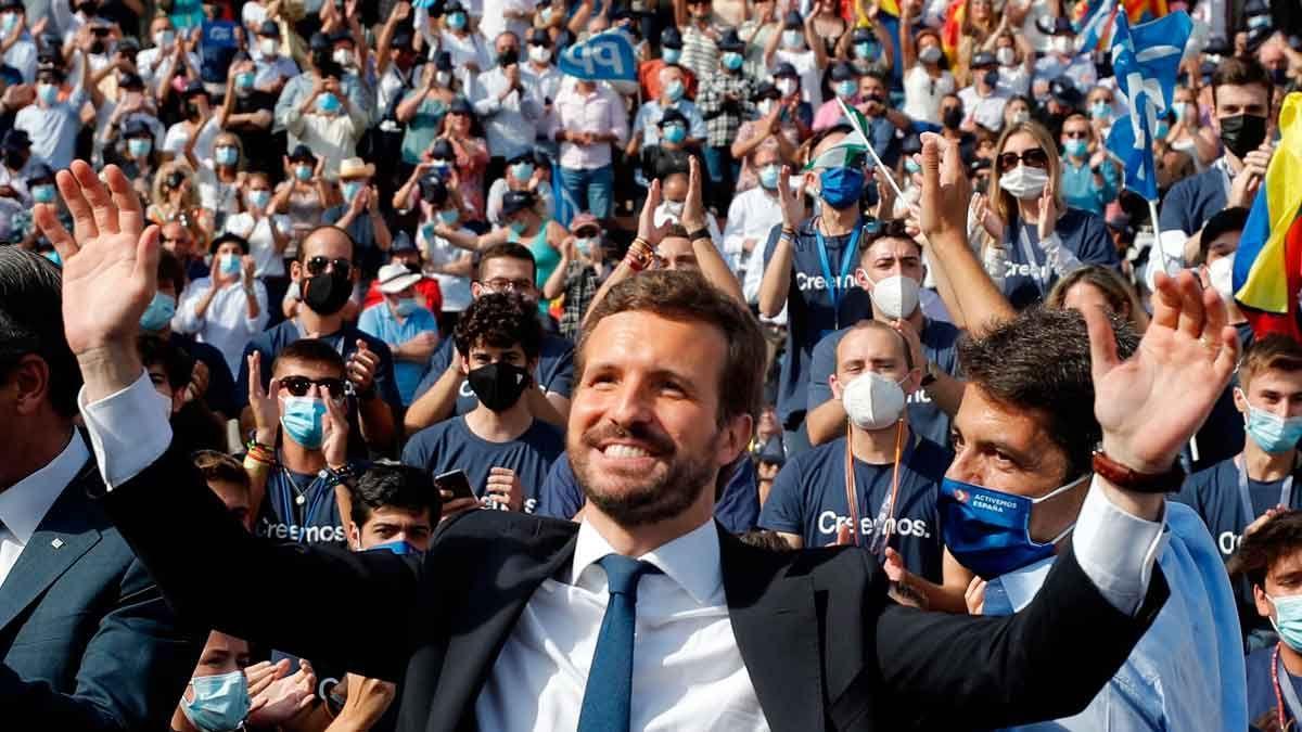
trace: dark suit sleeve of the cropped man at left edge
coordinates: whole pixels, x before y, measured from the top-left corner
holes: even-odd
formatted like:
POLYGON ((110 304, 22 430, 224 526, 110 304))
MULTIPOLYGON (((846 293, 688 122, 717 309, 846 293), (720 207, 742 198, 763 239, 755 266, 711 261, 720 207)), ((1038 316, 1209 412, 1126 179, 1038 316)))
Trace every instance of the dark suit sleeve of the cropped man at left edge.
POLYGON ((133 561, 82 651, 76 692, 23 681, 0 666, 0 707, 7 720, 39 719, 44 729, 167 729, 201 647, 197 634, 176 629, 159 589, 133 561))

